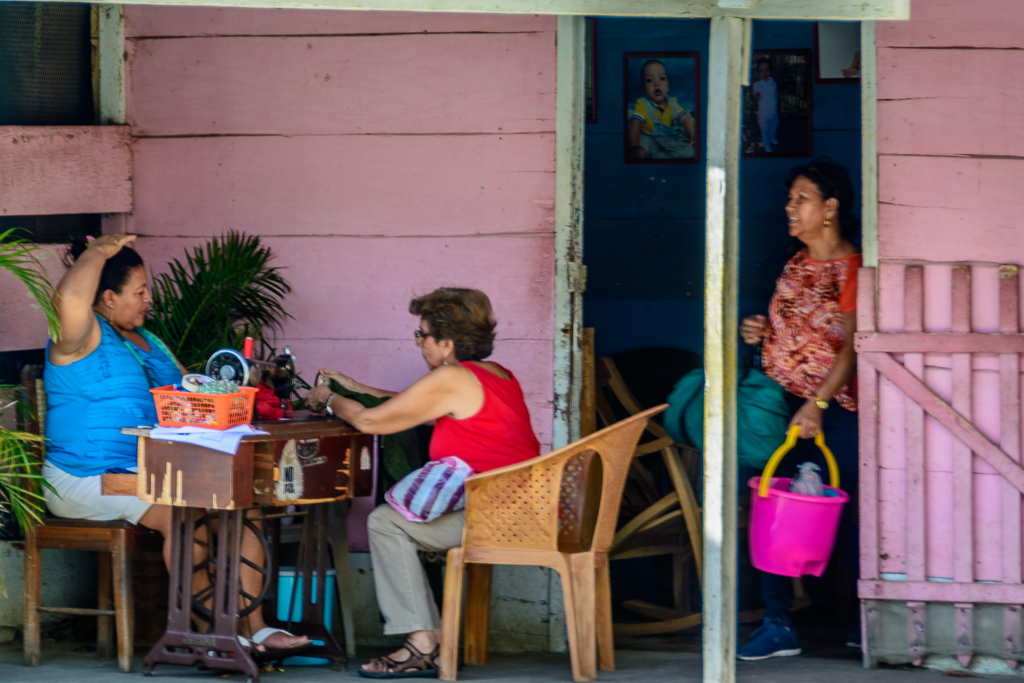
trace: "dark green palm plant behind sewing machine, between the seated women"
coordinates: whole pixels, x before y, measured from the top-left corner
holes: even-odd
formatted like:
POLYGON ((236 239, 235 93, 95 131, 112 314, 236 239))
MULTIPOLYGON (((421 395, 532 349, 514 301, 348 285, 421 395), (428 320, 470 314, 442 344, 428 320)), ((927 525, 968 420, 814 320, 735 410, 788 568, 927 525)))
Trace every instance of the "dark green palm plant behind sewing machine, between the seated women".
POLYGON ((231 231, 174 259, 153 278, 146 329, 159 336, 189 372, 202 372, 219 348, 241 348, 245 337, 262 346, 264 333, 290 318, 282 301, 292 291, 270 249, 256 236, 231 231))

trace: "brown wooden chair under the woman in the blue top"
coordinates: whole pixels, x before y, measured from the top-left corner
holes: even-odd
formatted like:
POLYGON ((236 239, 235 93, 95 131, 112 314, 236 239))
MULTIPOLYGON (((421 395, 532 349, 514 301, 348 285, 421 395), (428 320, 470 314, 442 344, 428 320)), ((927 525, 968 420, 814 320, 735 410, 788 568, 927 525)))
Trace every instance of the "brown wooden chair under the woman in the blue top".
MULTIPOLYGON (((42 434, 46 423, 42 368, 26 367, 22 373, 20 388, 31 407, 31 415, 23 429, 42 434)), ((112 658, 116 623, 118 669, 130 672, 135 633, 132 601, 135 551, 159 551, 162 545, 160 533, 126 521, 46 517, 43 524, 30 525, 25 529, 25 666, 39 666, 42 613, 95 615, 98 621, 96 654, 101 658, 112 658), (41 604, 43 549, 99 553, 99 585, 95 609, 41 604)))

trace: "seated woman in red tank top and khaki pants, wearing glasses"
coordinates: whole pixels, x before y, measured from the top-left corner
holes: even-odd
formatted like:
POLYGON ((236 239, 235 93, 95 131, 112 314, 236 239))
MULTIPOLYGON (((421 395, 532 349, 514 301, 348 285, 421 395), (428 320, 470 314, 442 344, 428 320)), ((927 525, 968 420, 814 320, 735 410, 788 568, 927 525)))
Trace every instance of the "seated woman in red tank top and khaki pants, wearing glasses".
MULTIPOLYGON (((350 391, 389 400, 368 409, 319 386, 306 394, 306 405, 336 415, 368 434, 392 434, 433 421, 430 459, 456 456, 475 472, 539 456, 541 445, 518 380, 497 362, 483 359, 494 347, 496 325, 487 296, 479 290, 443 288, 413 299, 409 310, 420 316, 414 335, 429 373, 394 392, 322 370, 322 375, 350 391)), ((388 505, 371 513, 370 556, 384 633, 409 634, 409 639, 398 651, 365 665, 360 675, 436 675, 440 615, 417 552, 459 546, 464 523, 464 510, 425 523, 410 521, 388 505)))

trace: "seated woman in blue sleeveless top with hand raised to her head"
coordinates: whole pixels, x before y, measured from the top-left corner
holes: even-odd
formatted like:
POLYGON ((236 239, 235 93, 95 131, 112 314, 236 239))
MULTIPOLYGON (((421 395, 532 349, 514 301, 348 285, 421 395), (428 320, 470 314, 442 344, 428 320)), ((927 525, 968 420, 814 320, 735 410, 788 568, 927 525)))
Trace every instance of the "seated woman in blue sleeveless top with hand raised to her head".
MULTIPOLYGON (((50 511, 72 519, 126 519, 164 535, 169 563, 171 508, 134 496, 103 496, 100 475, 136 468, 134 436, 124 427, 157 423, 150 389, 181 381, 184 368, 142 325, 153 297, 142 259, 126 245, 134 234, 106 234, 72 248, 75 263, 57 285, 54 305, 60 337, 47 344, 46 463, 50 511)), ((258 542, 247 535, 242 552, 261 562, 258 542)), ((243 571, 246 592, 260 577, 243 571), (252 584, 252 585, 250 585, 252 584)), ((249 617, 258 649, 304 645, 305 636, 264 628, 260 610, 249 617)))

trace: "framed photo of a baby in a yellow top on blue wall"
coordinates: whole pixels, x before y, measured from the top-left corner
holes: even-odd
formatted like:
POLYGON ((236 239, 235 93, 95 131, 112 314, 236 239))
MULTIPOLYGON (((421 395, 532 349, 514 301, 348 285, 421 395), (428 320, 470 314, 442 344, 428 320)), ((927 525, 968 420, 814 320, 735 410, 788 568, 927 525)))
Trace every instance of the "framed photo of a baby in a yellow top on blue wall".
POLYGON ((700 160, 700 54, 623 55, 627 164, 692 164, 700 160))

